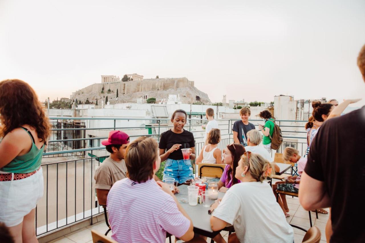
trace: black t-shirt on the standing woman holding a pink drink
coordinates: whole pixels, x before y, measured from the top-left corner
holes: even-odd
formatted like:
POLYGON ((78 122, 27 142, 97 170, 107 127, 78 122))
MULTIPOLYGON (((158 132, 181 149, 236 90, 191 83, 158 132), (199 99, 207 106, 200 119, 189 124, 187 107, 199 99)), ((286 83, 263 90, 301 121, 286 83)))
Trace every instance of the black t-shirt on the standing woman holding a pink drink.
POLYGON ((174 160, 183 159, 181 148, 195 147, 194 135, 185 129, 182 133, 174 133, 168 130, 161 134, 160 143, 158 144, 159 148, 169 150, 174 144, 181 144, 181 146, 178 150, 173 151, 168 158, 174 160))

